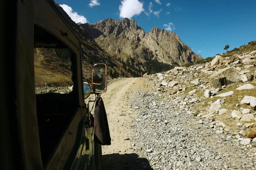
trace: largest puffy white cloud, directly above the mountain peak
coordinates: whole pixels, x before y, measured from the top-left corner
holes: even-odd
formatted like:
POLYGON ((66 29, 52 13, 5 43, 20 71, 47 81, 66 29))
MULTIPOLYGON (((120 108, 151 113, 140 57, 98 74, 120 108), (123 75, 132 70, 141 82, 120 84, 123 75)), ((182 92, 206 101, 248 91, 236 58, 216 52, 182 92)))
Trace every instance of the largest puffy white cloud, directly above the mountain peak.
POLYGON ((143 3, 138 0, 122 0, 121 3, 119 5, 120 18, 131 19, 134 15, 139 15, 144 11, 143 3))

